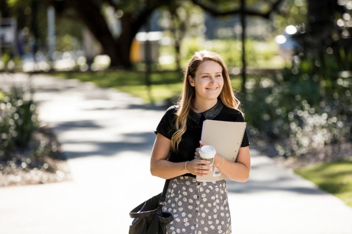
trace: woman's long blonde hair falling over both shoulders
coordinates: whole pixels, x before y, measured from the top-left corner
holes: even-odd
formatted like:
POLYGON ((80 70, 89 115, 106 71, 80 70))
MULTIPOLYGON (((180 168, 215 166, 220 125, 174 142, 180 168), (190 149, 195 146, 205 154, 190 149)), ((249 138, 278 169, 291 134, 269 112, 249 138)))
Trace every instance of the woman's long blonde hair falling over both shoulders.
POLYGON ((189 60, 186 70, 184 71, 183 89, 180 97, 176 102, 176 104, 179 106, 176 111, 176 132, 171 137, 171 148, 175 152, 178 151, 178 145, 181 142, 182 135, 186 132, 188 114, 195 98, 195 90, 194 87, 189 84, 188 77, 191 76, 192 78, 195 78, 195 73, 198 69, 198 66, 202 63, 202 61, 205 60, 214 61, 222 67, 224 86, 222 87, 221 93, 219 95, 221 102, 224 103, 224 105, 226 105, 228 108, 239 110, 241 112, 241 102, 236 98, 234 94, 231 86, 230 76, 228 76, 224 60, 218 53, 215 52, 209 52, 207 50, 195 52, 193 57, 189 60))

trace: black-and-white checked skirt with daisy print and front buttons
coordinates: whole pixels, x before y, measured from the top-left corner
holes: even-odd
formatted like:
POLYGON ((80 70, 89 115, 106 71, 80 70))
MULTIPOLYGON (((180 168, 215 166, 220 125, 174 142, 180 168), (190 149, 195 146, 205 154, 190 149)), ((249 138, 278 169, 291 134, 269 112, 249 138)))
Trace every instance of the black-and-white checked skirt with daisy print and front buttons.
POLYGON ((172 178, 163 211, 174 217, 166 225, 166 234, 231 234, 225 180, 197 182, 191 176, 172 178))

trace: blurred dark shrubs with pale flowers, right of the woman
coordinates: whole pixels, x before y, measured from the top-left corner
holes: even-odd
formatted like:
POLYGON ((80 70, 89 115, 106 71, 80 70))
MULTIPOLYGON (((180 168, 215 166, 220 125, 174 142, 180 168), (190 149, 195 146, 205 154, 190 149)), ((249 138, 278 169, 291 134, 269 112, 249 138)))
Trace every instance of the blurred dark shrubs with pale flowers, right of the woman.
MULTIPOLYGON (((344 58, 351 57, 352 50, 344 58)), ((351 141, 352 73, 334 55, 321 66, 309 57, 274 77, 249 79, 244 109, 254 139, 275 144, 280 155, 299 156, 325 144, 351 141)))

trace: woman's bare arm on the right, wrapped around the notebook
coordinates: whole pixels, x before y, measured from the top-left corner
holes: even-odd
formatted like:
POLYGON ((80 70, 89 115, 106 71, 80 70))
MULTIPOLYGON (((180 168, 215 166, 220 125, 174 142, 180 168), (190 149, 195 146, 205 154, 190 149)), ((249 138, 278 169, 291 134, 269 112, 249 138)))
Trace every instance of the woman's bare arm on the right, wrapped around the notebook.
MULTIPOLYGON (((203 142, 200 143, 201 146, 206 145, 203 142)), ((200 148, 196 149, 196 156, 199 156, 199 149, 200 148)), ((216 154, 214 158, 214 166, 220 167, 221 163, 222 157, 216 154)), ((246 146, 240 148, 236 162, 230 162, 225 159, 222 166, 218 169, 230 180, 246 182, 249 178, 249 173, 251 170, 251 157, 249 153, 249 147, 246 146)))

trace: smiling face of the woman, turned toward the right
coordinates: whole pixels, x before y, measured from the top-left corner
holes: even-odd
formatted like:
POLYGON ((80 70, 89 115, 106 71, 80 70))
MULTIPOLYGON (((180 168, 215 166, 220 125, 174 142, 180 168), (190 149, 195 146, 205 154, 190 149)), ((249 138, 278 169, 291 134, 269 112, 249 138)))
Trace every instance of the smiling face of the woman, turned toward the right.
POLYGON ((211 60, 203 61, 198 66, 195 77, 189 76, 188 79, 195 89, 196 98, 201 99, 217 99, 224 86, 222 67, 211 60))

